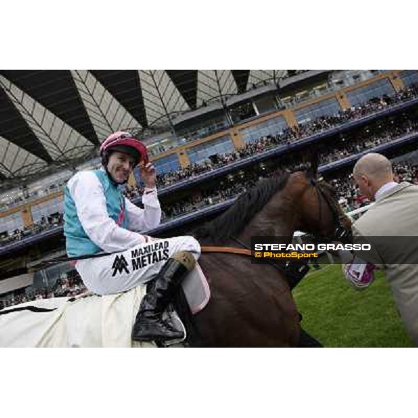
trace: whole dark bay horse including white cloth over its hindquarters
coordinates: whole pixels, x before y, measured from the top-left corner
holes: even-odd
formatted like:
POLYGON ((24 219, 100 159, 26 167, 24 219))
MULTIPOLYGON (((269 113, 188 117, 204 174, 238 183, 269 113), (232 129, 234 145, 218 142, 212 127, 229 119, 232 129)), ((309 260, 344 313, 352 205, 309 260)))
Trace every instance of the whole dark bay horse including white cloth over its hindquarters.
MULTIPOLYGON (((318 182, 315 173, 278 172, 244 192, 229 210, 192 235, 203 247, 246 249, 254 236, 285 237, 291 242, 295 231, 304 231, 334 237, 336 231, 349 231, 350 224, 332 187, 318 182)), ((223 252, 203 252, 199 265, 211 297, 193 317, 189 346, 297 346, 300 314, 284 265, 254 264, 250 257, 223 252)), ((0 346, 149 346, 130 339, 143 294, 144 286, 139 286, 119 295, 59 297, 3 309, 0 346)))

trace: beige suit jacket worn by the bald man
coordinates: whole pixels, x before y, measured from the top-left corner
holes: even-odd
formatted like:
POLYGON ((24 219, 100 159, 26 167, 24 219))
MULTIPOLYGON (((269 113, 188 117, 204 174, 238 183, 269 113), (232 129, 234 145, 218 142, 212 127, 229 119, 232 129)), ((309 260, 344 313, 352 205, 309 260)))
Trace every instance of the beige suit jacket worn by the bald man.
POLYGON ((370 253, 357 255, 385 270, 403 323, 418 346, 418 186, 400 183, 379 196, 353 224, 353 235, 372 245, 370 253))

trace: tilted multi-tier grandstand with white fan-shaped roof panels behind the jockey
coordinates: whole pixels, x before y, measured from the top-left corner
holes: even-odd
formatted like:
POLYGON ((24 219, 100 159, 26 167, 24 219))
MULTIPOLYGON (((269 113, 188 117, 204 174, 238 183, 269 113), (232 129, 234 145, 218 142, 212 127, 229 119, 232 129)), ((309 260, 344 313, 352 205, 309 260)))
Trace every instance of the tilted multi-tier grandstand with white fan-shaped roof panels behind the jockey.
MULTIPOLYGON (((366 205, 350 170, 374 150, 418 184, 417 70, 0 70, 0 309, 84 290, 65 254, 63 186, 100 165, 112 131, 144 138, 164 219, 184 233, 311 147, 349 212, 366 205)), ((125 194, 141 205, 134 171, 125 194)))

